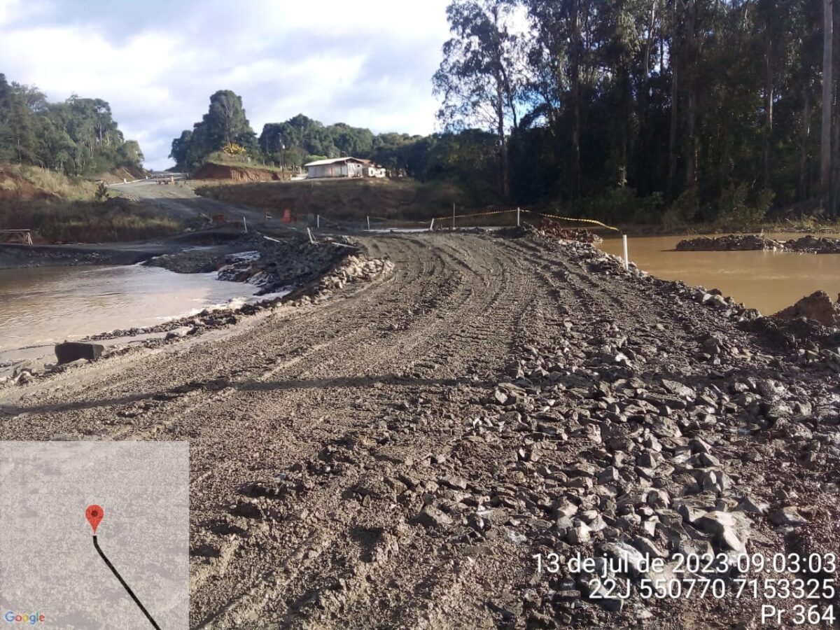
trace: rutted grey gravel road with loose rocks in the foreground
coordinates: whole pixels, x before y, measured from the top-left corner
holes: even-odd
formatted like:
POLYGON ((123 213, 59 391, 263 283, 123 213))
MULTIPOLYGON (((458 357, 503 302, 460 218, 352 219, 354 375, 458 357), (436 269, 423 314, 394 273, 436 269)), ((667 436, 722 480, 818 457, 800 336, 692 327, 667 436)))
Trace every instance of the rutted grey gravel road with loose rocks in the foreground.
POLYGON ((189 440, 192 627, 733 627, 761 602, 533 555, 837 552, 836 372, 743 309, 588 245, 363 244, 364 288, 0 391, 2 439, 189 440))

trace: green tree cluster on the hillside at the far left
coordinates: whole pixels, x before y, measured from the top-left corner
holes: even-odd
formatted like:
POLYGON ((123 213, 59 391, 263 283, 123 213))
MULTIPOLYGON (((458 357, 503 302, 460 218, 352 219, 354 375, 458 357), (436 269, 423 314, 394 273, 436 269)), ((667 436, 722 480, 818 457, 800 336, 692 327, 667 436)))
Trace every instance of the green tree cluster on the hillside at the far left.
POLYGON ((96 176, 142 161, 139 144, 123 138, 108 102, 75 94, 47 102, 37 87, 9 84, 0 73, 0 164, 96 176))

